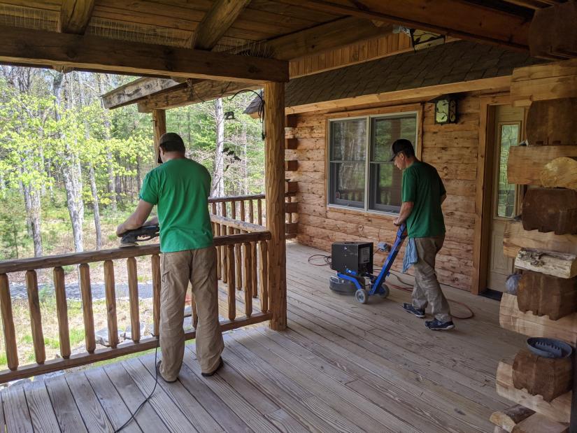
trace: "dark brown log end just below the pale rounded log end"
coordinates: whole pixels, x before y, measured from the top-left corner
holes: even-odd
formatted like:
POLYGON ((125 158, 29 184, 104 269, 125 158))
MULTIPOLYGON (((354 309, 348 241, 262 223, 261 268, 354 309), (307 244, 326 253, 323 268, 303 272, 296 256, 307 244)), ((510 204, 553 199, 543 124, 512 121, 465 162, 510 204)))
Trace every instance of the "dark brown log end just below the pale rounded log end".
POLYGON ((532 188, 523 198, 523 228, 555 234, 577 233, 577 191, 532 188))

